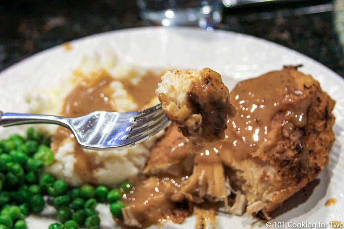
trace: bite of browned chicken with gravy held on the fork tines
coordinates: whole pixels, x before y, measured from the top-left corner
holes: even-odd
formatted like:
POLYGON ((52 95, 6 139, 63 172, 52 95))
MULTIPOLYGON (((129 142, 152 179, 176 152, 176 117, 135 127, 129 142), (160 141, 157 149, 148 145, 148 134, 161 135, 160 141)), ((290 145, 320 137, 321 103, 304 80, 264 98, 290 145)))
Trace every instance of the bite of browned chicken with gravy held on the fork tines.
POLYGON ((210 68, 172 69, 161 79, 155 93, 169 119, 179 124, 185 137, 197 145, 224 138, 226 122, 235 116, 235 110, 219 73, 210 68))

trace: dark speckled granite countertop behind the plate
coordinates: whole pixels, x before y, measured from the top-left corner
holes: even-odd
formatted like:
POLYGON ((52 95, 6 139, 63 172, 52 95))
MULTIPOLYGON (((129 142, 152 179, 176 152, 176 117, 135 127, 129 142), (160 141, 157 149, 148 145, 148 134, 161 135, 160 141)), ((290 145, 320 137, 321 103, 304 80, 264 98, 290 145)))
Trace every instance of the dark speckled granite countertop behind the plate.
MULTIPOLYGON (((319 2, 327 6, 331 3, 319 2)), ((295 4, 227 9, 219 28, 282 44, 344 76, 344 54, 334 30, 331 7, 325 12, 291 16, 293 7, 295 4)), ((135 0, 8 1, 0 6, 0 15, 0 71, 76 38, 150 25, 139 18, 135 0)))

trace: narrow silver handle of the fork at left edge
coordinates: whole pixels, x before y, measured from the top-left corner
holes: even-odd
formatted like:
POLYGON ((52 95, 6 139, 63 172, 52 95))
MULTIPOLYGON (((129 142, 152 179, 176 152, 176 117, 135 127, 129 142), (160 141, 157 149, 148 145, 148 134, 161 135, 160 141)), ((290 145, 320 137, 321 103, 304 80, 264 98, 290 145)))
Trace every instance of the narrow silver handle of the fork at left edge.
POLYGON ((54 115, 39 114, 20 114, 20 113, 3 113, 0 111, 0 126, 15 126, 22 124, 46 123, 56 124, 69 128, 66 117, 54 115))

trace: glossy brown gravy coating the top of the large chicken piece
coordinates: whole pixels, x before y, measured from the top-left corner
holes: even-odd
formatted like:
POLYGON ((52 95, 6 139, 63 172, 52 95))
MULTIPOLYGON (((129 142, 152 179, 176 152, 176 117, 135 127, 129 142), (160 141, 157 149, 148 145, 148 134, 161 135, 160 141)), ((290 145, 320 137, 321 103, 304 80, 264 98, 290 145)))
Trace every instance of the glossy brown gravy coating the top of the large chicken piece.
POLYGON ((207 146, 207 150, 228 159, 228 150, 237 159, 251 156, 263 143, 269 142, 271 123, 276 114, 283 116, 282 126, 293 124, 303 127, 307 123, 310 101, 302 91, 295 90, 296 82, 286 74, 276 77, 269 72, 259 78, 242 81, 230 92, 230 102, 237 115, 227 123, 225 139, 207 146), (255 90, 255 94, 249 89, 255 90))

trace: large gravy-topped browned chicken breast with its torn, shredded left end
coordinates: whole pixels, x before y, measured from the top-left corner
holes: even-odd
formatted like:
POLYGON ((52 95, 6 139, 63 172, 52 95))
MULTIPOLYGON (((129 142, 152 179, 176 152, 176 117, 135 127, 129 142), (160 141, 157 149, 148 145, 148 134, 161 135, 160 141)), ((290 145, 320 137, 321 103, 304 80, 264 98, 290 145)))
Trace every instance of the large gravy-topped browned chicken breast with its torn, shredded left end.
POLYGON ((221 141, 193 151, 177 124, 166 129, 144 172, 183 178, 160 207, 187 203, 185 218, 194 204, 222 202, 228 213, 241 215, 246 209, 269 219, 271 211, 319 175, 335 140, 335 101, 297 68, 286 66, 238 83, 230 92, 237 115, 227 122, 221 141))

